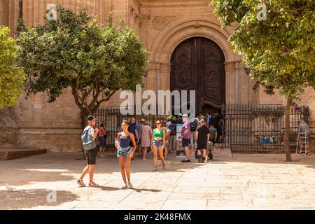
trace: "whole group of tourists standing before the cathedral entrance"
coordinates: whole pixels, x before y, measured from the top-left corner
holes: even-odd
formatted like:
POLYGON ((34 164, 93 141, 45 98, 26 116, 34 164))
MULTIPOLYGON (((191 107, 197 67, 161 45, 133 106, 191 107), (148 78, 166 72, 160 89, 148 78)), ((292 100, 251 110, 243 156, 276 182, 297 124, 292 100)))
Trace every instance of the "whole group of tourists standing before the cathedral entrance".
MULTIPOLYGON (((154 130, 151 128, 151 123, 144 119, 141 119, 141 123, 139 125, 136 124, 134 118, 124 120, 120 126, 123 131, 119 132, 117 138, 115 139, 120 172, 125 183, 122 189, 133 187, 130 180, 130 163, 134 160, 134 153, 137 151, 137 147, 139 147, 138 157, 142 158, 142 160, 146 160, 148 150, 153 151, 153 171, 158 170, 158 156, 162 162, 163 169, 167 169, 166 160, 169 152, 169 141, 171 139, 171 126, 173 126, 173 132, 176 132, 176 123, 183 123, 179 139, 181 139, 181 144, 185 150, 186 158, 181 162, 190 162, 189 145, 191 144, 192 136, 193 139, 195 139, 195 144, 197 145, 197 161, 207 162, 207 158, 211 159, 211 151, 209 151, 207 157, 207 146, 209 141, 212 142, 214 146, 217 146, 217 139, 220 139, 218 125, 222 122, 221 118, 216 116, 216 113, 213 118, 211 118, 210 113, 208 113, 207 117, 200 114, 193 120, 188 120, 188 115, 186 114, 183 116, 180 114, 177 118, 169 116, 167 118, 167 122, 165 122, 164 119, 157 120, 155 124, 156 128, 154 130), (191 124, 195 127, 195 130, 191 127, 191 124), (192 134, 191 132, 195 133, 192 134)), ((84 146, 91 147, 86 147, 88 150, 85 150, 87 166, 83 169, 83 172, 77 181, 79 186, 85 186, 83 178, 87 173, 89 173, 90 176, 89 186, 98 186, 97 183, 94 183, 93 181, 97 157, 97 147, 95 141, 97 137, 99 137, 99 156, 102 158, 106 157, 105 148, 107 136, 105 127, 106 125, 102 123, 99 125, 99 128, 97 128, 94 116, 89 116, 87 118, 87 127, 85 127, 82 135, 82 139, 85 141, 83 142, 83 148, 84 146)))

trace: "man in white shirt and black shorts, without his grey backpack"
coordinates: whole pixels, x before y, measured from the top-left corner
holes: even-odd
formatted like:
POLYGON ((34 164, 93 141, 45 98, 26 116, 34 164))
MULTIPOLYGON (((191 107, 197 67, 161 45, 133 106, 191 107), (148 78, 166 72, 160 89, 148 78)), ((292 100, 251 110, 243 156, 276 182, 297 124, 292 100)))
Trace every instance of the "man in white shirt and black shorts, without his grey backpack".
MULTIPOLYGON (((92 141, 95 141, 97 138, 97 135, 99 134, 99 130, 95 128, 96 125, 96 120, 94 116, 88 116, 87 117, 87 126, 83 130, 84 132, 87 132, 88 135, 90 135, 92 141)), ((96 156, 97 156, 97 148, 93 148, 90 151, 85 151, 85 157, 87 161, 87 166, 83 169, 83 172, 80 176, 80 179, 78 179, 77 183, 81 187, 85 187, 85 183, 83 182, 83 178, 85 174, 89 173, 90 176, 90 187, 98 187, 99 185, 93 181, 94 177, 94 170, 95 170, 95 165, 96 165, 96 156)))

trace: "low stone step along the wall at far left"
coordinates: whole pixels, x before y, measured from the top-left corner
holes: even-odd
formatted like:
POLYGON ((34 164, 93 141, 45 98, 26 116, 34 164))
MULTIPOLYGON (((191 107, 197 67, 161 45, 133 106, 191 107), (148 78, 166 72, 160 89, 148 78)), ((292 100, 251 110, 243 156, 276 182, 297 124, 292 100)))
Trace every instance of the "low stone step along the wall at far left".
POLYGON ((47 153, 47 150, 34 148, 0 148, 0 160, 15 160, 43 153, 47 153))

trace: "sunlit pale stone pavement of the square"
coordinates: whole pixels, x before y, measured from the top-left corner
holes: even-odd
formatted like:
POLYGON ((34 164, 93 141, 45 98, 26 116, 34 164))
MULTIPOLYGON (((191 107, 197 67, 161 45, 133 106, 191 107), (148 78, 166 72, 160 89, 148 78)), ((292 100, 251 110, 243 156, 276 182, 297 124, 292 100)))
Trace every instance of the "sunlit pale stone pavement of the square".
MULTIPOLYGON (((213 162, 132 161, 134 189, 123 181, 115 155, 97 160, 99 188, 79 188, 80 153, 47 153, 0 161, 0 209, 315 209, 315 155, 235 154, 213 162), (16 188, 6 190, 5 184, 16 188), (53 196, 55 190, 56 197, 53 196)), ((85 183, 88 176, 85 176, 85 183)))

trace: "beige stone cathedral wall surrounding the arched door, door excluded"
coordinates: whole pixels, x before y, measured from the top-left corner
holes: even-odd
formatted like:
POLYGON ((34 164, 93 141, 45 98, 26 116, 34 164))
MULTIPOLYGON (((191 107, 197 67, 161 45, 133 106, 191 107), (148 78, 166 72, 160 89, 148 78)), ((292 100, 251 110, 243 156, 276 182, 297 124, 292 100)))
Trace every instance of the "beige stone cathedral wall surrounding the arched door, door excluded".
MULTIPOLYGON (((244 72, 241 56, 232 51, 228 38, 233 27, 221 29, 214 8, 208 0, 24 0, 23 18, 26 25, 35 27, 43 24, 47 3, 78 11, 87 6, 97 20, 106 23, 109 11, 114 11, 114 22, 123 18, 132 27, 151 52, 148 76, 144 78, 144 90, 169 90, 170 60, 179 43, 188 38, 203 36, 216 42, 225 55, 226 102, 242 104, 284 104, 279 94, 269 97, 255 80, 244 72)), ((18 0, 0 0, 0 24, 15 30, 18 18, 18 0), (4 12, 4 13, 2 13, 4 12)), ((103 106, 119 106, 120 92, 114 94, 110 102, 103 106)), ((311 109, 310 126, 315 131, 315 91, 307 90, 297 103, 309 105, 311 109)), ((7 113, 7 112, 6 112, 7 113)), ((22 95, 13 108, 13 116, 2 121, 6 144, 20 147, 45 148, 50 151, 80 151, 81 118, 70 90, 52 104, 47 96, 36 94, 25 99, 22 95), (10 120, 14 120, 12 122, 10 120), (15 124, 12 127, 3 125, 15 124), (11 139, 15 133, 15 139, 11 139)), ((3 145, 3 143, 2 143, 3 145)))

